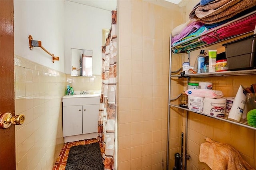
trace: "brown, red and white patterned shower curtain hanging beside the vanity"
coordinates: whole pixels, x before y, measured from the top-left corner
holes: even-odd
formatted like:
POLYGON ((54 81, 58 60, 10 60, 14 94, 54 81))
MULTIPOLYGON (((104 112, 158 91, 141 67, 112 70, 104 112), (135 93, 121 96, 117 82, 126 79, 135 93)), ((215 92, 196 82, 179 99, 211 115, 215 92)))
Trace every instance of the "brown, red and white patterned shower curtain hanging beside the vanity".
POLYGON ((116 115, 116 11, 112 11, 112 25, 102 46, 102 88, 98 120, 98 138, 103 145, 105 170, 114 169, 115 115, 116 115))

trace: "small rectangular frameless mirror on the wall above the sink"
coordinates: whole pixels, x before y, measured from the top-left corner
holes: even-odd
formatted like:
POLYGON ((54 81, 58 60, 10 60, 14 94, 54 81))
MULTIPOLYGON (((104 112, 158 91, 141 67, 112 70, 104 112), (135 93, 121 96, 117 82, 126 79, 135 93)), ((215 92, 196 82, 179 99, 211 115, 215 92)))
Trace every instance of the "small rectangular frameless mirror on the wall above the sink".
POLYGON ((92 50, 71 48, 71 76, 92 76, 92 50))

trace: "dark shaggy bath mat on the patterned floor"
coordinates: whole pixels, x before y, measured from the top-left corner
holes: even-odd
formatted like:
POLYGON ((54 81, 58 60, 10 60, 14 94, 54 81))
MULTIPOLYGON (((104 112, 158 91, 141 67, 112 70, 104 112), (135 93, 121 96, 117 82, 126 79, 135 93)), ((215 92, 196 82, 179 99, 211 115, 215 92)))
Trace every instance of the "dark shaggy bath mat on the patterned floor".
POLYGON ((72 146, 65 170, 104 170, 99 143, 72 146))

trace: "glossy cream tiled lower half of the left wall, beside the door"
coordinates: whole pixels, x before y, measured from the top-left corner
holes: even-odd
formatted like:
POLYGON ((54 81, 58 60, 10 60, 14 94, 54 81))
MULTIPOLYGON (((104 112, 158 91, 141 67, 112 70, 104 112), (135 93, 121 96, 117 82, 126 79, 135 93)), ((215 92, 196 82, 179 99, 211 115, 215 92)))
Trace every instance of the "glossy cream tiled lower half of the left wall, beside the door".
POLYGON ((16 169, 50 170, 60 153, 66 74, 15 56, 16 169))

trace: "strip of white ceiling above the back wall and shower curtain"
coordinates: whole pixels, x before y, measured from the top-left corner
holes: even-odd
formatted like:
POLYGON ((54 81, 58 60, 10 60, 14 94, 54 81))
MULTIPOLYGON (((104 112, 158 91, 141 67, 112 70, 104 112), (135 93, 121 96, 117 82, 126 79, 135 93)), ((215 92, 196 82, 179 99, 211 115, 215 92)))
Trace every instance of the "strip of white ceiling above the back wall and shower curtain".
POLYGON ((96 8, 112 11, 116 10, 116 0, 68 0, 78 4, 93 6, 96 8))

